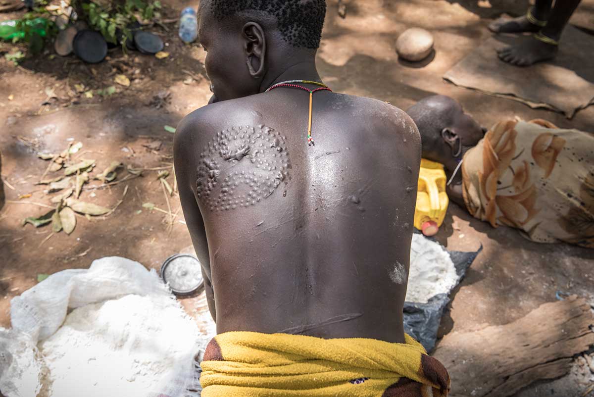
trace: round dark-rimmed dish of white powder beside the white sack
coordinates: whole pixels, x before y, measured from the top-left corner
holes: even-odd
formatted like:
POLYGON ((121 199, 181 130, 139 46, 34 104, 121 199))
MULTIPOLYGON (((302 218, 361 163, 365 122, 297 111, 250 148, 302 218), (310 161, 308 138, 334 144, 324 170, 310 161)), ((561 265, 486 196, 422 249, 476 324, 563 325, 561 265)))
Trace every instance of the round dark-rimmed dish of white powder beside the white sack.
POLYGON ((204 288, 200 261, 187 254, 175 254, 163 262, 161 278, 175 295, 194 295, 204 288))

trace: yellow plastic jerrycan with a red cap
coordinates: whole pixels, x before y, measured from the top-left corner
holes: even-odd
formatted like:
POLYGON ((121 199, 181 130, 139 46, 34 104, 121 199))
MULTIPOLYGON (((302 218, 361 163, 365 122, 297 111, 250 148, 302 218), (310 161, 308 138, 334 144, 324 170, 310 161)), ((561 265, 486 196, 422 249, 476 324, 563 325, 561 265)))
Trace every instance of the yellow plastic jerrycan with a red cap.
POLYGON ((432 236, 444 222, 450 200, 445 193, 445 171, 440 163, 421 159, 416 193, 415 228, 432 236))

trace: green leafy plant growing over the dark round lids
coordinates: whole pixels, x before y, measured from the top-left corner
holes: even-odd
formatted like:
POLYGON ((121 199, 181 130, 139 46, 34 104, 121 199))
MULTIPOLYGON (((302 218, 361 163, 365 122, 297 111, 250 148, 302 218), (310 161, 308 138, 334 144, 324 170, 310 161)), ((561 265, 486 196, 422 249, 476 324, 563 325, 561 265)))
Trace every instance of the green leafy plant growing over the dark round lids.
POLYGON ((159 1, 122 0, 102 2, 75 0, 75 2, 78 2, 80 9, 83 11, 83 18, 89 22, 89 25, 99 31, 105 37, 105 40, 113 44, 124 45, 126 40, 132 39, 132 31, 129 29, 130 24, 160 17, 161 3, 159 1))

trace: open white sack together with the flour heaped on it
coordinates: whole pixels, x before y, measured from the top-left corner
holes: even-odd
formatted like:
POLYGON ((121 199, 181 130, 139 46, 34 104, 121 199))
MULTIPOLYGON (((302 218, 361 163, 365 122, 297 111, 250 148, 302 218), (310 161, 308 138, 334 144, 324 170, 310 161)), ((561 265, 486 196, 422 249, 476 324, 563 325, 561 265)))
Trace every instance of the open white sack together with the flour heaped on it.
POLYGON ((10 359, 2 360, 0 351, 2 394, 197 396, 194 357, 206 345, 206 338, 154 270, 149 272, 140 263, 109 257, 94 261, 89 270, 65 272, 50 276, 45 286, 43 281, 24 292, 12 307, 11 314, 16 314, 11 318, 12 330, 0 332, 0 336, 13 333, 18 338, 0 338, 0 349, 3 342, 12 346, 10 359), (102 283, 112 296, 106 296, 102 283), (65 308, 61 300, 46 305, 33 298, 51 296, 52 291, 46 287, 55 289, 60 284, 61 288, 54 291, 59 291, 55 295, 61 298, 67 297, 65 308), (84 294, 90 284, 98 289, 87 289, 84 294), (33 294, 28 294, 34 289, 33 294), (64 318, 72 307, 77 308, 64 318), (34 322, 15 324, 15 319, 24 317, 20 310, 35 313, 34 322), (59 316, 61 322, 56 320, 59 316), (56 323, 58 327, 53 330, 56 323), (39 335, 37 346, 35 333, 39 335), (34 382, 37 385, 31 385, 34 382))

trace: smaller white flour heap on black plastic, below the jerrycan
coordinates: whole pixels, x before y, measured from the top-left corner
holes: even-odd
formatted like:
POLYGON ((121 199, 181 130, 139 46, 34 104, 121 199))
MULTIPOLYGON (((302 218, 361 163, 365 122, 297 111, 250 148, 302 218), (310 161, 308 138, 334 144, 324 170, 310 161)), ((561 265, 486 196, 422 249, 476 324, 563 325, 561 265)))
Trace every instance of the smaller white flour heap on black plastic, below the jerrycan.
POLYGON ((437 294, 448 294, 458 279, 450 254, 440 244, 412 235, 406 301, 427 303, 437 294))

